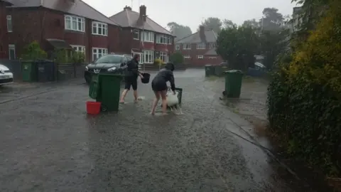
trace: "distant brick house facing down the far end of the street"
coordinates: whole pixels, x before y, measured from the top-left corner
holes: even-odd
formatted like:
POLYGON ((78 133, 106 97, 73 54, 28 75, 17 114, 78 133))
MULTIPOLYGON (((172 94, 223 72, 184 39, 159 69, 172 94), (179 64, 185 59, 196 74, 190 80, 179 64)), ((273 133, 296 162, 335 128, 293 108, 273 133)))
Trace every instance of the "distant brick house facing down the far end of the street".
POLYGON ((204 26, 200 26, 197 33, 177 41, 175 50, 183 54, 185 63, 189 65, 218 65, 222 62, 222 58, 215 52, 216 41, 217 34, 215 31, 205 30, 204 26))

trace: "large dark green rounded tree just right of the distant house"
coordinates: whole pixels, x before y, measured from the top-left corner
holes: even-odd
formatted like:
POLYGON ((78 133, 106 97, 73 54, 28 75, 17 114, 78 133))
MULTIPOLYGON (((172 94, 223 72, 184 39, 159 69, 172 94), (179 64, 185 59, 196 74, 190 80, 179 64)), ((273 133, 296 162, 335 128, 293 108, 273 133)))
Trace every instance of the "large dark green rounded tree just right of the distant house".
POLYGON ((246 70, 254 65, 258 45, 258 36, 253 28, 234 26, 220 31, 216 51, 232 68, 246 70))

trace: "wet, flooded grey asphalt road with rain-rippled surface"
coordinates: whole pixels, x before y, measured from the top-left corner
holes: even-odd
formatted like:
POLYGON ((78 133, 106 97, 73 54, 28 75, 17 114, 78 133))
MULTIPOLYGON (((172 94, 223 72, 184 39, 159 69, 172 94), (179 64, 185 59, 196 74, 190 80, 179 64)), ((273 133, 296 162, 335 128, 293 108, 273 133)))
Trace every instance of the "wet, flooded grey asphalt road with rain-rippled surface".
POLYGON ((151 116, 153 92, 141 83, 144 100, 134 104, 129 92, 119 112, 97 116, 86 113, 88 86, 78 82, 12 102, 7 92, 0 191, 293 191, 204 75, 175 72, 181 115, 151 116))

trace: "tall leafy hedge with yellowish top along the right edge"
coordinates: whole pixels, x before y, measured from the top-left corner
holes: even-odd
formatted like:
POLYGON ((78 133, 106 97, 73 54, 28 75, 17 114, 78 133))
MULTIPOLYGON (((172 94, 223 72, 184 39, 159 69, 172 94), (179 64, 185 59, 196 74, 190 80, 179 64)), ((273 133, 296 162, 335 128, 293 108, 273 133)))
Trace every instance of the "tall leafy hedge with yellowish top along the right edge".
POLYGON ((288 142, 288 153, 340 174, 341 3, 330 6, 293 60, 281 60, 268 88, 271 128, 288 142))

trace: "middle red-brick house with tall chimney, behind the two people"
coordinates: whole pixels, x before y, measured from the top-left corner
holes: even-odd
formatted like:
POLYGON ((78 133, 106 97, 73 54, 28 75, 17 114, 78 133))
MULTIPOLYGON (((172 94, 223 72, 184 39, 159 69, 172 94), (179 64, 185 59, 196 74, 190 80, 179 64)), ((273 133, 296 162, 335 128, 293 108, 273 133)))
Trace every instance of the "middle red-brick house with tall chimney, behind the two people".
POLYGON ((140 6, 139 13, 126 6, 109 18, 122 27, 120 48, 124 53, 140 54, 141 63, 153 63, 155 58, 168 62, 175 36, 146 15, 146 6, 140 6))

